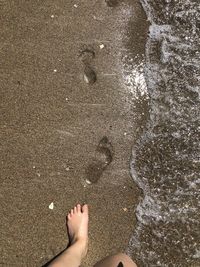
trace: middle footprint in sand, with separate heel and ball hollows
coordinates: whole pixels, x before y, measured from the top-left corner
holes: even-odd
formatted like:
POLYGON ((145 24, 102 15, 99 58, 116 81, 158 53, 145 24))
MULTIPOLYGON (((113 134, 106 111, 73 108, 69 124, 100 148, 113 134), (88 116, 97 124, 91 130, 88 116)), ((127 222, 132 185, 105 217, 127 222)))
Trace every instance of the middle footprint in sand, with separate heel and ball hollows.
POLYGON ((93 84, 97 80, 96 73, 91 67, 94 58, 95 52, 90 48, 84 49, 79 55, 79 59, 83 63, 83 79, 87 84, 93 84))

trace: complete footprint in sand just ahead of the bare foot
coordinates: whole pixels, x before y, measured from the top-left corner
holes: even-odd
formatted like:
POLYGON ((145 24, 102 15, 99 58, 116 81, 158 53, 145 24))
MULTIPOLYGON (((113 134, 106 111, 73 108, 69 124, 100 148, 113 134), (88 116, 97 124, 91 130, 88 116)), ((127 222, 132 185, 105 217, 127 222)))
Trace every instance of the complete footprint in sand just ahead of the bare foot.
POLYGON ((112 160, 113 147, 107 136, 104 136, 96 148, 93 162, 85 170, 87 184, 97 183, 112 160))

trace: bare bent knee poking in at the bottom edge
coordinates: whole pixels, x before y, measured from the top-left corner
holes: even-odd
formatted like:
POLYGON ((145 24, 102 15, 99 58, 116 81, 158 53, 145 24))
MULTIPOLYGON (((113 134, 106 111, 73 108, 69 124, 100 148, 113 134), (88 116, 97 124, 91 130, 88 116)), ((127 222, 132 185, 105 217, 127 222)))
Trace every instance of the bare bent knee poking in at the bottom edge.
POLYGON ((117 267, 120 262, 122 263, 121 266, 123 267, 137 267, 137 265, 131 260, 131 258, 124 253, 108 256, 96 263, 94 267, 117 267))

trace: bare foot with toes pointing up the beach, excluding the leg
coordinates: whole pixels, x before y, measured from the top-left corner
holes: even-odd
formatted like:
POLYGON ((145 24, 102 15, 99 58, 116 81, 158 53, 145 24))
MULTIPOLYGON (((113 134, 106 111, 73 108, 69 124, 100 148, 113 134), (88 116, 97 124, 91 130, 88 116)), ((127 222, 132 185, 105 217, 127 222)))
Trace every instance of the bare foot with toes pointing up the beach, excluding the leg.
POLYGON ((76 244, 83 259, 88 247, 88 205, 78 204, 71 209, 67 215, 67 229, 70 245, 76 244))

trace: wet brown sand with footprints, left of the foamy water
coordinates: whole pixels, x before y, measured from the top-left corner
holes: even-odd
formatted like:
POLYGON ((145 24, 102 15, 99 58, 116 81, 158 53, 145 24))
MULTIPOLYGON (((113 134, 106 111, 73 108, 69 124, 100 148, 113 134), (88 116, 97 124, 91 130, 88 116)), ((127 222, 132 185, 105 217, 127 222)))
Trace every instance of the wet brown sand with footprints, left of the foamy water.
POLYGON ((129 161, 148 102, 133 69, 148 24, 139 2, 107 2, 1 3, 1 266, 58 254, 78 202, 90 206, 83 266, 129 242, 140 195, 129 161))

